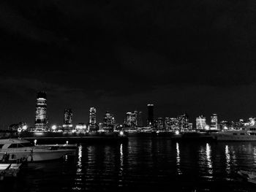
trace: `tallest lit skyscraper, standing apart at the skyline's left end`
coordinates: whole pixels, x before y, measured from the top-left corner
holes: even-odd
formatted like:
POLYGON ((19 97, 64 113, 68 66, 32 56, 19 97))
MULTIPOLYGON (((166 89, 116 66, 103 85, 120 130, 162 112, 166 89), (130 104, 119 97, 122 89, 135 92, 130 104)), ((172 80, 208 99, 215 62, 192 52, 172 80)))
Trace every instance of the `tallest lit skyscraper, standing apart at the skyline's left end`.
POLYGON ((47 102, 46 93, 37 93, 37 105, 36 105, 36 118, 35 118, 35 131, 46 131, 48 129, 47 123, 47 102))

